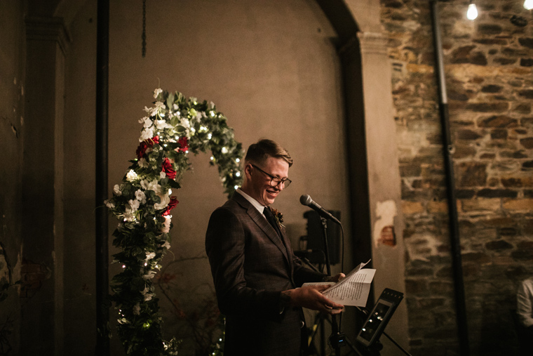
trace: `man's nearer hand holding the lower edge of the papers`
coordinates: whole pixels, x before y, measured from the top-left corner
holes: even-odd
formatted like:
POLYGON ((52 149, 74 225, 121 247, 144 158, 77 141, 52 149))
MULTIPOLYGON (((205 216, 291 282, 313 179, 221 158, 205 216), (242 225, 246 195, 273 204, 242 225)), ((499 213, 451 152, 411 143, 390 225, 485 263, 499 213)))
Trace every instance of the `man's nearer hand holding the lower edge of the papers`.
POLYGON ((281 292, 282 299, 288 301, 291 307, 304 307, 312 310, 319 310, 328 314, 339 314, 344 310, 344 305, 331 301, 321 294, 329 286, 302 286, 297 289, 290 289, 281 292), (289 298, 287 298, 289 297, 289 298))

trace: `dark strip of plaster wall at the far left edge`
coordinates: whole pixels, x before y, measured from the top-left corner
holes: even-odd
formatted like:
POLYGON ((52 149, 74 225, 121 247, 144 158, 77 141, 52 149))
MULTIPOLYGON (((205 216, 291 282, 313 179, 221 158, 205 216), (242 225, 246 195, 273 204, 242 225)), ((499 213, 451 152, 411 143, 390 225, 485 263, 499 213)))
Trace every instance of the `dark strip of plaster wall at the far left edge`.
POLYGON ((0 2, 0 326, 11 333, 0 350, 18 350, 22 264, 22 147, 24 143, 24 4, 0 2))

